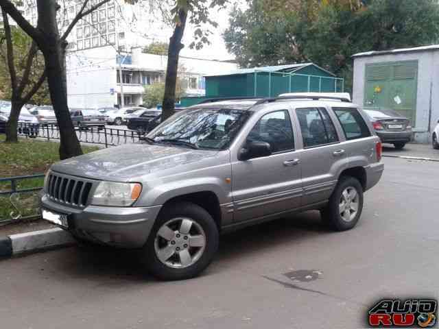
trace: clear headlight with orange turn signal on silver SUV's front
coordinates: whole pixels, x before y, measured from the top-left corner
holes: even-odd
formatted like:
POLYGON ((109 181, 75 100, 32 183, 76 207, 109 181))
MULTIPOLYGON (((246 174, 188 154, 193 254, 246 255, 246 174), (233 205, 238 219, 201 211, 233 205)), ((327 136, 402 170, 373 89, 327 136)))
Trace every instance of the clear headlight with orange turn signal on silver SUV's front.
POLYGON ((142 186, 139 183, 100 182, 91 204, 95 206, 131 206, 139 198, 142 186))

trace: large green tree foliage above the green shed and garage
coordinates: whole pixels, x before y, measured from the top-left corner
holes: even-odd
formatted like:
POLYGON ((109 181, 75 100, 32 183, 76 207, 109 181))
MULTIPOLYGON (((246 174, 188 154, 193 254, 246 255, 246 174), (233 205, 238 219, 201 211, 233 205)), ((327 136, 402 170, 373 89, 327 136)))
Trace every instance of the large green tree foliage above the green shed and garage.
POLYGON ((352 86, 361 51, 416 47, 439 37, 435 0, 251 0, 224 33, 241 66, 314 62, 352 86))

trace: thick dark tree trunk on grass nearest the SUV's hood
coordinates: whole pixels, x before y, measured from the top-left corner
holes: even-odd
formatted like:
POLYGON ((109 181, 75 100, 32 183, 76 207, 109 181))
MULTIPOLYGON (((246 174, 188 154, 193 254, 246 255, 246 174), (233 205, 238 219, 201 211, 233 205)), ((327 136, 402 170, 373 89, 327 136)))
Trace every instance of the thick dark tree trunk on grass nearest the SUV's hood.
POLYGON ((56 121, 60 130, 60 159, 80 156, 82 149, 71 121, 67 103, 67 73, 64 66, 65 43, 60 40, 56 24, 58 3, 56 0, 38 0, 38 27, 45 42, 38 45, 45 59, 50 99, 54 106, 56 121))

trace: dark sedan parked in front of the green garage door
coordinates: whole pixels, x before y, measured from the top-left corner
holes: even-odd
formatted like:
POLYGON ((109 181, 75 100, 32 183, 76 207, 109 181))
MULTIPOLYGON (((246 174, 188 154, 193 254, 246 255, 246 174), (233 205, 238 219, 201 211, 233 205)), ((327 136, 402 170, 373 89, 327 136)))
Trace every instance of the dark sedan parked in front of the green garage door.
POLYGON ((402 149, 412 140, 412 125, 410 120, 394 110, 383 108, 365 108, 372 125, 382 143, 393 144, 396 149, 402 149))

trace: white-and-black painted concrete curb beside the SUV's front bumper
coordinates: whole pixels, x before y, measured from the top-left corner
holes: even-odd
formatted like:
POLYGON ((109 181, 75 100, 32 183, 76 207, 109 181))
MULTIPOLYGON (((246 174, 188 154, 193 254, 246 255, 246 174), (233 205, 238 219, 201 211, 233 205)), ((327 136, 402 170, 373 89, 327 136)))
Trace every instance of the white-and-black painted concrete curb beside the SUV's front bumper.
POLYGON ((12 234, 0 238, 0 258, 30 254, 54 247, 65 247, 73 243, 75 240, 71 234, 60 228, 12 234))

